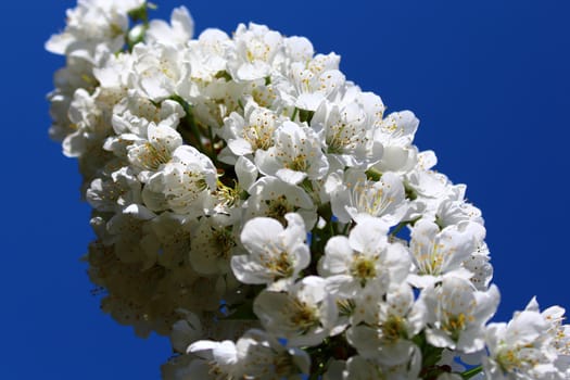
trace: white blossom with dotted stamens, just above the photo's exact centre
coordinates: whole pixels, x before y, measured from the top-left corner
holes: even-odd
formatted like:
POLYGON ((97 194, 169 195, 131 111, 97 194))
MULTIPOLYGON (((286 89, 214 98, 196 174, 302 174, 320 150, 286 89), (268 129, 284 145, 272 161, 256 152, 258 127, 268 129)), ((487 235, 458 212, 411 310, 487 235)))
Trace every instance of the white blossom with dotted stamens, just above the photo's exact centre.
POLYGON ((297 185, 305 178, 324 178, 329 163, 322 154, 315 131, 296 123, 284 122, 274 134, 275 145, 255 152, 259 172, 288 183, 297 185))

